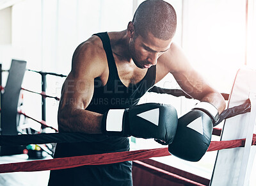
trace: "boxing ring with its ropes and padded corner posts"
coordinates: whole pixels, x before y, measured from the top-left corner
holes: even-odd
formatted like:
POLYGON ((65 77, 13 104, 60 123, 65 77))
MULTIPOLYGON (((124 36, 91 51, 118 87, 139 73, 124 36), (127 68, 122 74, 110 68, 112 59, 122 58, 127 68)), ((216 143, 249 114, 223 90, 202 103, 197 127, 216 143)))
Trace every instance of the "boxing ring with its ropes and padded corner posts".
MULTIPOLYGON (((40 147, 40 151, 48 151, 47 153, 51 155, 52 149, 45 144, 90 141, 91 135, 58 133, 56 128, 43 120, 46 109, 45 98, 60 100, 58 97, 45 94, 46 75, 58 75, 60 77, 65 77, 65 75, 33 71, 42 75, 42 93, 36 93, 21 87, 25 72, 26 61, 13 60, 10 70, 8 70, 6 86, 1 87, 4 93, 1 96, 0 155, 20 154, 30 144, 36 144, 40 147), (17 111, 21 89, 42 96, 42 121, 28 116, 23 111, 17 111), (56 133, 32 132, 31 134, 18 135, 19 120, 17 118, 19 119, 20 114, 37 121, 42 125, 42 128, 52 128, 56 133)), ((256 85, 253 82, 256 82, 256 72, 249 68, 241 68, 237 72, 230 95, 222 94, 225 100, 228 100, 228 108, 220 115, 220 121, 216 125, 224 121, 223 129, 214 128, 212 132, 212 135, 221 136, 221 141, 212 141, 207 150, 218 150, 211 180, 150 159, 170 156, 168 148, 0 164, 0 173, 46 171, 132 160, 134 185, 156 185, 156 183, 157 185, 248 185, 256 153, 256 85), (145 179, 141 179, 141 176, 145 179)), ((190 98, 180 89, 163 89, 155 86, 149 92, 190 98)))

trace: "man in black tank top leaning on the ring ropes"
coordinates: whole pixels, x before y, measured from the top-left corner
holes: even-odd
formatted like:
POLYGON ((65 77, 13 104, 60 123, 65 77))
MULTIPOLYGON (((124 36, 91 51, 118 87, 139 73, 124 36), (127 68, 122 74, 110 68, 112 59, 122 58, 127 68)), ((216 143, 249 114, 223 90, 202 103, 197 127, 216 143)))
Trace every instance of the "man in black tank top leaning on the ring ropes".
MULTIPOLYGON (((143 136, 143 131, 124 137, 112 136, 113 131, 123 131, 124 125, 121 130, 116 130, 116 125, 112 126, 113 122, 108 120, 108 111, 131 108, 131 114, 140 97, 168 73, 173 74, 191 97, 211 103, 219 113, 225 109, 220 93, 204 81, 189 65, 182 49, 172 43, 176 20, 175 10, 170 4, 162 0, 144 1, 127 29, 93 35, 77 47, 72 70, 63 84, 58 111, 59 130, 95 136, 92 136, 92 141, 84 143, 57 144, 55 158, 127 151, 129 141, 125 136, 157 138, 153 134, 143 136), (112 129, 108 129, 108 125, 112 129)), ((122 114, 126 112, 124 110, 122 114)), ((175 111, 170 112, 175 128, 175 111)), ((118 113, 111 113, 112 118, 118 117, 118 113)), ((120 123, 122 120, 121 117, 120 123)), ((146 129, 143 126, 143 130, 146 129)), ((166 134, 170 132, 172 126, 166 134)), ((172 143, 172 138, 159 137, 159 140, 172 143)), ((51 171, 49 185, 132 185, 131 162, 51 171)))

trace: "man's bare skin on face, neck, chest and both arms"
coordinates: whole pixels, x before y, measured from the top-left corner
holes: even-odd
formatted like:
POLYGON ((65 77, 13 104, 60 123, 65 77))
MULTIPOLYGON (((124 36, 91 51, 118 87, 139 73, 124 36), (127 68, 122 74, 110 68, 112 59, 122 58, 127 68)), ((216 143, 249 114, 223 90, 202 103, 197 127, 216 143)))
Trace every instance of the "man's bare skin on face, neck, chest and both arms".
MULTIPOLYGON (((150 66, 156 65, 156 83, 171 73, 180 87, 193 98, 210 102, 219 114, 225 100, 211 88, 189 64, 182 49, 170 40, 160 40, 151 33, 135 36, 134 26, 108 33, 120 80, 125 86, 143 79, 150 66)), ((58 124, 61 132, 101 134, 102 114, 86 111, 93 96, 94 79, 108 81, 108 61, 99 37, 92 36, 74 52, 72 70, 61 91, 58 124)))

